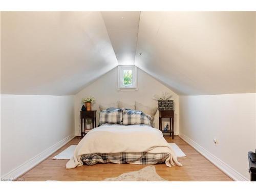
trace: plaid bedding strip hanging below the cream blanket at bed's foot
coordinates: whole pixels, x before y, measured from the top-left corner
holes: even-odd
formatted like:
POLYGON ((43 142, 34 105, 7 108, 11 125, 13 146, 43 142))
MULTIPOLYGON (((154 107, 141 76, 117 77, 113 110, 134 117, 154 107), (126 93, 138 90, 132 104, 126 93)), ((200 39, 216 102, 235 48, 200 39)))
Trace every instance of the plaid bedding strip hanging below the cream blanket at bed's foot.
POLYGON ((153 165, 165 162, 168 154, 166 153, 110 153, 110 154, 86 154, 81 156, 83 164, 94 165, 96 163, 129 163, 129 164, 142 164, 153 165))

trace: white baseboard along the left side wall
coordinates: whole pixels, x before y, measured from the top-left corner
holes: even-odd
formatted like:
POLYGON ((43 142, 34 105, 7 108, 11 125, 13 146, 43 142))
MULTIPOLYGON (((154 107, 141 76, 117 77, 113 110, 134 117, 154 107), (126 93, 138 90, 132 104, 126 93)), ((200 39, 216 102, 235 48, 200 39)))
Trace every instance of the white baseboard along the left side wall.
POLYGON ((32 169, 34 166, 39 164, 40 162, 44 161, 46 158, 51 156, 54 152, 59 150, 60 147, 67 144, 69 141, 71 141, 75 137, 75 134, 72 134, 65 139, 62 139, 58 143, 52 145, 44 152, 38 154, 37 156, 31 158, 27 162, 23 163, 22 165, 19 165, 17 168, 11 170, 9 173, 5 174, 1 180, 2 181, 11 181, 16 179, 19 176, 22 176, 26 172, 28 172, 30 169, 32 169))

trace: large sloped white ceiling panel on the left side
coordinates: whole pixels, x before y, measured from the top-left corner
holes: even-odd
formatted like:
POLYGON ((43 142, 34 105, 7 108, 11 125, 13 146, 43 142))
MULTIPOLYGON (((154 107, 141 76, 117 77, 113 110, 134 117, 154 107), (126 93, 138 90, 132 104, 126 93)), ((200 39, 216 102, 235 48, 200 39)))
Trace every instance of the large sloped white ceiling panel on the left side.
POLYGON ((1 13, 1 94, 73 95, 117 65, 100 12, 1 13))

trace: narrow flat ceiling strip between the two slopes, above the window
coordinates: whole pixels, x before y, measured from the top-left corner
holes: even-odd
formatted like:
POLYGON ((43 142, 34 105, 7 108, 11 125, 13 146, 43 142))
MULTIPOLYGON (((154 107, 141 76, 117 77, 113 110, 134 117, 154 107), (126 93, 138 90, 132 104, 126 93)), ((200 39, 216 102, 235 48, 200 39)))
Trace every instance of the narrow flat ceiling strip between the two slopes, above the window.
POLYGON ((101 12, 119 65, 134 65, 139 11, 101 12))

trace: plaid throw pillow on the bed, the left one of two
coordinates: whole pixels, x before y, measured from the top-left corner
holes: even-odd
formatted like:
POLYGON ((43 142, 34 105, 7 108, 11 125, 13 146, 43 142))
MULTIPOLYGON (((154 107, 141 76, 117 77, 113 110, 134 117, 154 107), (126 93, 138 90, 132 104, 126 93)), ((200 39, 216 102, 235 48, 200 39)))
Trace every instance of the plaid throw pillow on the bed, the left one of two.
POLYGON ((123 110, 116 109, 113 111, 103 110, 99 114, 99 125, 105 123, 122 124, 123 110))

